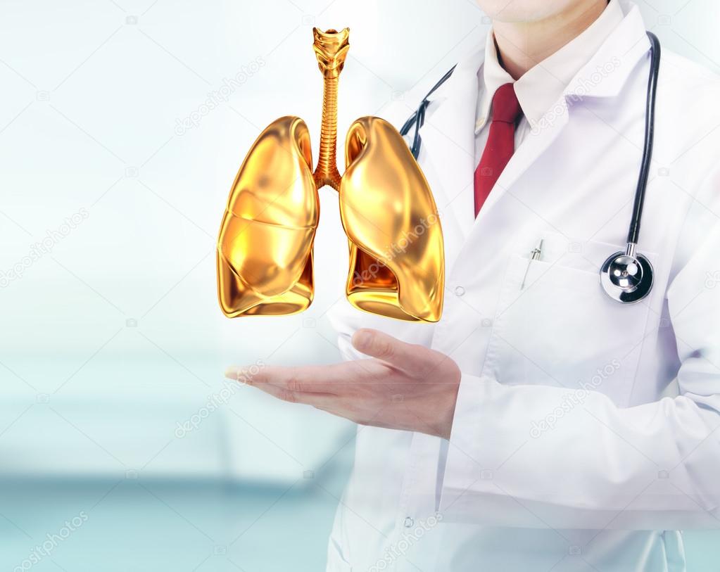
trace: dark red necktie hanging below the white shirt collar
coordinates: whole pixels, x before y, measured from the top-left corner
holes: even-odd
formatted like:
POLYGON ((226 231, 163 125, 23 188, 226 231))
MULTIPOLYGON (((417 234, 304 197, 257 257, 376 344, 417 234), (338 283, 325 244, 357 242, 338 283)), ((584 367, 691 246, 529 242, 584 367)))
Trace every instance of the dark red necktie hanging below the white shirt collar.
POLYGON ((475 169, 475 216, 500 178, 515 151, 515 124, 523 110, 512 83, 505 83, 492 96, 492 122, 485 150, 475 169))

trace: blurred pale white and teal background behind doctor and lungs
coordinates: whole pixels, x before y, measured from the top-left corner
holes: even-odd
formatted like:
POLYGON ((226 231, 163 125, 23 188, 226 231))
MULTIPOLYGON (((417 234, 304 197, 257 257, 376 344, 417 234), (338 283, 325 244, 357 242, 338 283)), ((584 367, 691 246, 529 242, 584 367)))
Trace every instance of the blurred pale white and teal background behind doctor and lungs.
MULTIPOLYGON (((720 69, 717 2, 639 6, 720 69)), ((222 371, 339 359, 338 204, 320 191, 310 309, 228 320, 230 184, 276 117, 317 145, 313 26, 352 30, 342 142, 400 122, 489 24, 472 0, 0 0, 0 570, 324 569, 355 427, 222 371)), ((716 571, 720 534, 686 540, 716 571)))

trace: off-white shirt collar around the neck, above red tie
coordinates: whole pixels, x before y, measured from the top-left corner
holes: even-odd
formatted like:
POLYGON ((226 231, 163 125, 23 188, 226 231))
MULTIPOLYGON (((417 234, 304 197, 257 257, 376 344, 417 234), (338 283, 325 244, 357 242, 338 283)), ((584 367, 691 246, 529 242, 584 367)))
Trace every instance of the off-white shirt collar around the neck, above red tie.
POLYGON ((517 81, 500 65, 495 36, 490 30, 485 43, 485 63, 478 73, 482 95, 477 106, 475 132, 480 132, 485 127, 490 117, 492 96, 504 83, 515 84, 515 93, 523 114, 530 124, 537 124, 623 19, 620 2, 610 0, 600 17, 587 29, 557 52, 534 65, 517 81))

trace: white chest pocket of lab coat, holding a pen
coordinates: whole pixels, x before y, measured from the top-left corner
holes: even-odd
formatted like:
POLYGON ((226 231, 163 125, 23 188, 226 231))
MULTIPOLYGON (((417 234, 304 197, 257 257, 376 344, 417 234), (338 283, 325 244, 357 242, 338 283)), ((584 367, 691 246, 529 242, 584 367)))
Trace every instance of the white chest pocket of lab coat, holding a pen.
POLYGON ((515 255, 493 320, 485 373, 505 384, 600 391, 624 405, 648 315, 644 302, 611 300, 587 260, 515 255))

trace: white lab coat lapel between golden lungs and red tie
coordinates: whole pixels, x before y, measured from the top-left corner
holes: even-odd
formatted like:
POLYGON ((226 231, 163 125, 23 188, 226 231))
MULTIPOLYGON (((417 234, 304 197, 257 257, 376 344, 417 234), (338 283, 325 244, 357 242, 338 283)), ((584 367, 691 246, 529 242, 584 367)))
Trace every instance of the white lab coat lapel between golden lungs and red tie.
POLYGON ((475 168, 475 113, 477 71, 485 52, 478 47, 460 62, 445 85, 431 100, 428 116, 420 130, 423 150, 420 165, 429 161, 437 173, 440 188, 433 189, 441 218, 454 219, 462 237, 472 229, 474 206, 472 181, 475 168), (432 111, 433 104, 437 107, 432 111), (432 111, 432 112, 431 112, 432 111))

